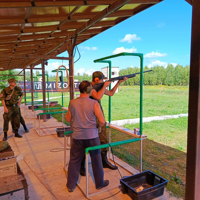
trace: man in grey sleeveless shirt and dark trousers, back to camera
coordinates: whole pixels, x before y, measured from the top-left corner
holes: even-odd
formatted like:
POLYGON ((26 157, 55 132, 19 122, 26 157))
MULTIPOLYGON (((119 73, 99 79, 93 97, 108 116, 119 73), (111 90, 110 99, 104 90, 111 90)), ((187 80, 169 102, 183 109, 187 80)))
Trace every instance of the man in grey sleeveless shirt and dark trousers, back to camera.
MULTIPOLYGON (((91 83, 82 81, 79 85, 79 90, 80 97, 70 101, 68 112, 65 116, 67 122, 71 121, 73 129, 67 180, 69 192, 73 192, 76 188, 85 149, 100 145, 98 132, 101 131, 101 127, 105 124, 100 105, 96 100, 89 98, 92 92, 91 83), (99 120, 99 124, 96 124, 96 117, 99 120)), ((98 149, 89 153, 96 189, 106 187, 109 181, 104 180, 101 151, 98 149)))

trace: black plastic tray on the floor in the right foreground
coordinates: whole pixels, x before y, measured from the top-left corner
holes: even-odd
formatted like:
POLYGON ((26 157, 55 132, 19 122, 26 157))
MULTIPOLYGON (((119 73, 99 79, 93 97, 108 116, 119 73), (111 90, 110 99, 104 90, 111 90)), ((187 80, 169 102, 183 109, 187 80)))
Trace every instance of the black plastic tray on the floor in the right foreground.
POLYGON ((134 200, 151 200, 162 196, 168 181, 151 171, 120 179, 122 193, 134 200), (138 188, 144 188, 138 191, 138 188), (137 190, 137 191, 136 191, 137 190))

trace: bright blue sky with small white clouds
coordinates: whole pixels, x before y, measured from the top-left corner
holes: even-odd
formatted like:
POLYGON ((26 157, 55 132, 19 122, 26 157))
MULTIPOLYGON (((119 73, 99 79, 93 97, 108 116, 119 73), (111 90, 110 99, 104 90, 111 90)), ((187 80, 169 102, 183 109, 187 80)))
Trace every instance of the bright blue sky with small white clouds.
MULTIPOLYGON (((190 64, 192 6, 185 0, 164 0, 121 22, 103 33, 78 45, 81 58, 75 63, 75 74, 92 74, 105 64, 94 63, 98 58, 122 51, 144 54, 144 66, 190 64)), ((60 56, 68 57, 68 53, 60 56)), ((76 52, 75 60, 78 58, 76 52)), ((46 69, 56 69, 62 61, 49 60, 46 69)), ((63 61, 68 66, 67 61, 63 61)), ((139 58, 112 59, 112 66, 125 69, 139 67, 139 58)), ((55 75, 50 73, 50 75, 55 75)))

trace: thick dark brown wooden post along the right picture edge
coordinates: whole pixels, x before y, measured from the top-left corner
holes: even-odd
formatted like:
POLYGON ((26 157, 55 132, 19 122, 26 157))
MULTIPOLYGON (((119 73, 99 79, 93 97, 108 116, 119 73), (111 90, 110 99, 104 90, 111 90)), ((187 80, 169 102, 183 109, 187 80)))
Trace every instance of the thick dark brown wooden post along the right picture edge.
POLYGON ((200 1, 193 0, 186 200, 200 200, 200 1))

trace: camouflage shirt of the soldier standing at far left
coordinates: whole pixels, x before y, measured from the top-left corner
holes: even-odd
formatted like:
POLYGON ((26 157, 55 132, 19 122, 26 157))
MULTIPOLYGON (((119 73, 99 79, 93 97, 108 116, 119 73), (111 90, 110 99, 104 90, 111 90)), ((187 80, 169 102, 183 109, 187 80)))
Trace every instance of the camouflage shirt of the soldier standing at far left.
POLYGON ((13 92, 13 94, 12 94, 10 100, 6 100, 6 97, 7 97, 8 95, 10 95, 10 94, 12 93, 12 91, 13 91, 13 90, 10 88, 10 86, 4 88, 4 89, 1 91, 1 94, 0 94, 0 101, 5 100, 5 104, 6 104, 7 106, 9 106, 9 105, 11 106, 11 105, 17 104, 18 101, 19 101, 19 97, 21 97, 21 96, 23 95, 22 89, 21 89, 20 87, 16 86, 16 87, 14 88, 14 92, 13 92))

